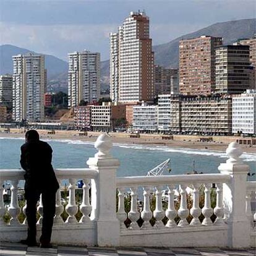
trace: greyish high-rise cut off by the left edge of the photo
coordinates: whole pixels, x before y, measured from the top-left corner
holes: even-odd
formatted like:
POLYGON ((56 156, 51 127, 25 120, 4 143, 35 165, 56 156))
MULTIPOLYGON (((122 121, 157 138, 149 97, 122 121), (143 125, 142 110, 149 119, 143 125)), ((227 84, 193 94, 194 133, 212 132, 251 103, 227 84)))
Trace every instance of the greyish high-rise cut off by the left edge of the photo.
POLYGON ((12 108, 12 75, 0 75, 0 105, 12 108))

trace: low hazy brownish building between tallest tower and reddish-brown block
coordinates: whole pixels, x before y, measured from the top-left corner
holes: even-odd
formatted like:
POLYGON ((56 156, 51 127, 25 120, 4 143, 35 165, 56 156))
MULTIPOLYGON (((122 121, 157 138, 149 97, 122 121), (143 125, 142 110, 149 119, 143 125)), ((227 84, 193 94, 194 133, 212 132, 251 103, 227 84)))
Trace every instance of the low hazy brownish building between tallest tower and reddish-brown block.
POLYGON ((179 70, 155 65, 155 95, 179 93, 179 70))

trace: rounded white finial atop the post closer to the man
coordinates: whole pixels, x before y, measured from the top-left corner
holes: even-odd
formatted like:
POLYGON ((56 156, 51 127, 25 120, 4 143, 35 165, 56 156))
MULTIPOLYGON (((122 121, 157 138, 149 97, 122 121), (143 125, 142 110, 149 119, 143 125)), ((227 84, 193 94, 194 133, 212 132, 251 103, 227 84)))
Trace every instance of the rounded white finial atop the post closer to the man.
POLYGON ((98 150, 98 153, 96 153, 98 158, 109 158, 111 156, 109 150, 113 147, 111 137, 106 133, 101 134, 97 138, 94 147, 98 150))

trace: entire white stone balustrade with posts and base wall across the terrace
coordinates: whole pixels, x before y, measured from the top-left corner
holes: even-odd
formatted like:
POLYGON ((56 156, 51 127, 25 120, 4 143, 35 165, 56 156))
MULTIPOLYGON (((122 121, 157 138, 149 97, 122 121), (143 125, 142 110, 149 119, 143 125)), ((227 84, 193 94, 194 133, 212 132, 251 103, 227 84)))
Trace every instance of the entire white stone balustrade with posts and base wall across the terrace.
MULTIPOLYGON (((218 174, 116 177, 119 161, 110 153, 111 137, 101 134, 98 152, 89 168, 56 169, 60 184, 56 194, 52 242, 61 245, 136 247, 255 247, 256 182, 246 181, 249 167, 239 158, 239 145, 229 144, 229 159, 218 174), (82 180, 80 202, 77 181, 82 180), (214 185, 213 185, 214 184, 214 185), (212 196, 214 195, 214 196, 212 196), (64 217, 64 213, 66 217, 64 217)), ((84 161, 84 160, 81 160, 84 161)), ((0 241, 17 242, 27 233, 20 223, 20 169, 1 169, 1 184, 11 183, 11 203, 4 205, 0 187, 0 241), (11 219, 6 223, 6 213, 11 219)), ((38 236, 43 205, 38 202, 38 236)), ((143 254, 144 255, 144 254, 143 254)))

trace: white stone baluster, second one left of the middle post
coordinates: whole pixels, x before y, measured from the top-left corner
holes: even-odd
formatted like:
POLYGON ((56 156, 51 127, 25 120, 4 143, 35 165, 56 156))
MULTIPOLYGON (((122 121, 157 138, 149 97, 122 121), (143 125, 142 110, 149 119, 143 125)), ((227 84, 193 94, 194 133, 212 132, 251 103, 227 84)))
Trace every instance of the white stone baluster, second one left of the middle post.
POLYGON ((66 205, 66 212, 69 216, 66 223, 77 223, 75 218, 77 211, 78 207, 75 204, 75 179, 69 179, 69 203, 66 205))

